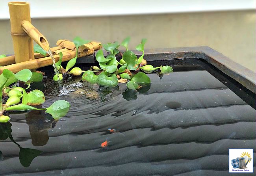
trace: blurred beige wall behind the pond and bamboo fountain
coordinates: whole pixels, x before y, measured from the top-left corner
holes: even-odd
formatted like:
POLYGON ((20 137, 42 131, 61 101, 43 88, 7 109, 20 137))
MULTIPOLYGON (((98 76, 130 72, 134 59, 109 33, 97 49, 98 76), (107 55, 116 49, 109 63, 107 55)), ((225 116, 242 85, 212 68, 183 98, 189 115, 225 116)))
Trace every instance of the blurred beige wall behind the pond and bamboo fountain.
MULTIPOLYGON (((174 13, 32 19, 51 47, 75 36, 102 43, 131 36, 130 49, 147 38, 146 48, 207 45, 256 72, 255 11, 174 13)), ((11 54, 9 20, 0 20, 0 54, 11 54)))

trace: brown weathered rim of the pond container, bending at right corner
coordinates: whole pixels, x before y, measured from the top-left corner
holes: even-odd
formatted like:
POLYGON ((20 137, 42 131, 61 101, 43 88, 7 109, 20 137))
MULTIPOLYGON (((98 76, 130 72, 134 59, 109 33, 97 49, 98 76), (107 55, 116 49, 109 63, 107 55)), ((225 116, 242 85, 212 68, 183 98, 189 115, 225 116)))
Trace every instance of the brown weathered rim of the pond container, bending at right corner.
MULTIPOLYGON (((138 56, 141 55, 139 51, 134 50, 134 53, 138 56)), ((256 94, 256 76, 253 71, 207 46, 147 49, 145 50, 144 58, 152 61, 191 58, 203 59, 256 94)))

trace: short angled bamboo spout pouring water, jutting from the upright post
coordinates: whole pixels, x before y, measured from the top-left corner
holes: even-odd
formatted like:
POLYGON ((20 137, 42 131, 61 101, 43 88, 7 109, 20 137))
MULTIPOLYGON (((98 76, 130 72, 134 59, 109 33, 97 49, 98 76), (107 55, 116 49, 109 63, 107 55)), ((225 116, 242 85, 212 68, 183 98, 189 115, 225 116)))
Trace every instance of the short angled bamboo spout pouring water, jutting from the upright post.
POLYGON ((45 51, 50 49, 49 43, 45 36, 41 34, 28 20, 21 22, 21 27, 25 33, 27 33, 39 46, 45 51))

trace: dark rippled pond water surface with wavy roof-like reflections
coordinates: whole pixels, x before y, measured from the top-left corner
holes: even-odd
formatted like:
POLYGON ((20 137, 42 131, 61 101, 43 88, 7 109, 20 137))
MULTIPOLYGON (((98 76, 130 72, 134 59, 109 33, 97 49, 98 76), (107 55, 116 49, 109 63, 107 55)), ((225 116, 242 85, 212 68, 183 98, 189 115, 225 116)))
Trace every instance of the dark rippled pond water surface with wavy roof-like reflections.
POLYGON ((255 173, 255 94, 202 60, 148 64, 174 72, 149 74, 150 87, 139 92, 81 77, 65 78, 61 94, 52 75, 33 83, 45 93, 43 107, 62 99, 70 111, 58 122, 45 111, 10 113, 0 125, 0 176, 224 176, 230 148, 254 149, 255 173))

